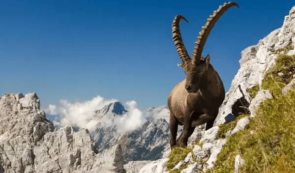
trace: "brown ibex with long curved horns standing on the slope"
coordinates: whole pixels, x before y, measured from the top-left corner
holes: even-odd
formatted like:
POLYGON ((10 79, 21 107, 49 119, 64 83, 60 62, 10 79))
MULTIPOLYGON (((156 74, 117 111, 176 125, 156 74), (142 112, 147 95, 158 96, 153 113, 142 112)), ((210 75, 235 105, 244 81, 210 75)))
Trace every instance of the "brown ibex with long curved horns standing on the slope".
POLYGON ((182 62, 178 66, 183 68, 186 79, 178 83, 168 96, 171 148, 177 144, 178 124, 184 125, 181 145, 187 146, 187 140, 195 127, 207 122, 206 130, 211 128, 218 115, 219 107, 225 97, 225 89, 219 75, 210 63, 210 55, 207 55, 206 58, 201 55, 214 24, 232 6, 239 8, 236 2, 224 3, 209 16, 199 33, 192 58, 187 54, 179 29, 180 20, 187 23, 188 21, 183 16, 177 15, 172 23, 173 41, 182 62))

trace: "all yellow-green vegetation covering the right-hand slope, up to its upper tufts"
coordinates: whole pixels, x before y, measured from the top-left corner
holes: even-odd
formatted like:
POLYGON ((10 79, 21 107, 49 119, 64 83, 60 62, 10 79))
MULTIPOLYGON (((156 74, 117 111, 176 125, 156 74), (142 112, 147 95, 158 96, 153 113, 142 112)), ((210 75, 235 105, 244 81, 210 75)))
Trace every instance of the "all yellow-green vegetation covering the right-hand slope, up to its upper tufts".
MULTIPOLYGON (((295 55, 279 55, 275 62, 266 72, 261 87, 269 89, 275 97, 261 103, 256 117, 250 119, 247 128, 228 138, 217 156, 215 167, 207 173, 234 173, 238 154, 245 161, 239 167, 240 173, 295 172, 295 87, 287 94, 281 93, 282 88, 294 78, 295 55)), ((257 88, 259 85, 248 89, 252 97, 259 90, 257 88)), ((221 124, 218 137, 224 138, 236 122, 221 124)))

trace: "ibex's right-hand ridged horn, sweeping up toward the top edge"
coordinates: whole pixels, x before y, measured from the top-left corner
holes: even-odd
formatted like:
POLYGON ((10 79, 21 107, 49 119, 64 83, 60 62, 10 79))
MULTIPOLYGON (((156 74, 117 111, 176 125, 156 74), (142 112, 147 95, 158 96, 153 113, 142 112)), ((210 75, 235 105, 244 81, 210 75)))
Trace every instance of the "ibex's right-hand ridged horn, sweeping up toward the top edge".
POLYGON ((200 61, 204 45, 206 43, 207 37, 211 29, 214 27, 215 23, 220 18, 220 16, 222 16, 222 14, 232 6, 237 6, 239 8, 236 2, 224 3, 223 5, 220 5, 216 11, 213 11, 213 14, 210 15, 207 19, 207 22, 202 27, 201 32, 199 32, 198 40, 195 43, 195 48, 191 60, 193 65, 196 65, 200 61))

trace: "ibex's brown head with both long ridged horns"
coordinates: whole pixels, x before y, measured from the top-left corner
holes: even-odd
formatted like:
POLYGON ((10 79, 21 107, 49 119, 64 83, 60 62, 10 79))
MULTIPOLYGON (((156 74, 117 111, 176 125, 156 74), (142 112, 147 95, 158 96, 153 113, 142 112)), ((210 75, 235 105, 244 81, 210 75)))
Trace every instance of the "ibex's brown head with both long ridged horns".
POLYGON ((206 76, 205 74, 207 73, 208 65, 210 63, 210 55, 207 55, 206 58, 201 57, 207 37, 220 16, 232 6, 239 7, 236 2, 224 3, 209 16, 206 24, 202 27, 202 30, 199 33, 192 58, 187 54, 179 29, 180 20, 184 20, 187 23, 188 21, 181 15, 175 17, 172 23, 172 35, 177 53, 182 61, 178 66, 183 67, 186 74, 185 89, 187 92, 197 92, 199 90, 201 81, 206 76))

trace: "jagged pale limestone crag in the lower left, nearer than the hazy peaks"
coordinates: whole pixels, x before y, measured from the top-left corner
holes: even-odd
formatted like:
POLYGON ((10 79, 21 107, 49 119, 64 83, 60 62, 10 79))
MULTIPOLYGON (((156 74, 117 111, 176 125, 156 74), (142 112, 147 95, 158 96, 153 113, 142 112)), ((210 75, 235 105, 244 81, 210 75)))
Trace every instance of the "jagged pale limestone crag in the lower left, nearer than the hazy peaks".
POLYGON ((54 131, 36 93, 0 97, 1 173, 123 173, 121 146, 97 152, 87 129, 54 131))

